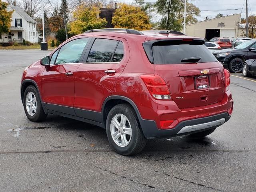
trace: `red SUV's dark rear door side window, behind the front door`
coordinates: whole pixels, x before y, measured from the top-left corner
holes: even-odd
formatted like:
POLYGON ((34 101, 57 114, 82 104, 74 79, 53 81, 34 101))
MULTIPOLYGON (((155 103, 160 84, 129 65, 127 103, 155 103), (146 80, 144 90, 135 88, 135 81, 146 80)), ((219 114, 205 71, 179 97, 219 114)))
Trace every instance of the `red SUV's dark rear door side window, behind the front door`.
MULTIPOLYGON (((116 52, 116 58, 113 60, 115 49, 118 45, 117 40, 110 39, 100 39, 97 38, 90 50, 90 53, 87 58, 88 63, 99 63, 99 62, 118 62, 120 56, 123 54, 118 48, 116 52)), ((122 44, 120 44, 122 46, 122 44)), ((122 58, 121 58, 122 59, 122 58)))

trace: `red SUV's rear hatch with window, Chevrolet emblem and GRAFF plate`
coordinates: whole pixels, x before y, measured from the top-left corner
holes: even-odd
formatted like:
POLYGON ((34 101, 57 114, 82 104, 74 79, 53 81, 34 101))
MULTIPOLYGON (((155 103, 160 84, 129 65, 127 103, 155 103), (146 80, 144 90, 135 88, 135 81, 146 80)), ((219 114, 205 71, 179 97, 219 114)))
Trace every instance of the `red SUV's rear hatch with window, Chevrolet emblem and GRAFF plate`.
POLYGON ((222 101, 223 66, 202 39, 148 41, 143 44, 154 73, 166 82, 178 108, 206 106, 222 101))

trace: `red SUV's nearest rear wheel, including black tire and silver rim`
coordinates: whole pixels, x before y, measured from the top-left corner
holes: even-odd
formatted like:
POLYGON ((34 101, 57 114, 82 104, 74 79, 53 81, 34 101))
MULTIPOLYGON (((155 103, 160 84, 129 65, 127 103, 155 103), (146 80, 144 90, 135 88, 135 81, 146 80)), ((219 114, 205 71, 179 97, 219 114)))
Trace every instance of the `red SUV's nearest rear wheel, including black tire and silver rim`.
POLYGON ((110 110, 106 132, 111 146, 121 155, 137 154, 146 145, 136 112, 129 104, 118 104, 110 110))

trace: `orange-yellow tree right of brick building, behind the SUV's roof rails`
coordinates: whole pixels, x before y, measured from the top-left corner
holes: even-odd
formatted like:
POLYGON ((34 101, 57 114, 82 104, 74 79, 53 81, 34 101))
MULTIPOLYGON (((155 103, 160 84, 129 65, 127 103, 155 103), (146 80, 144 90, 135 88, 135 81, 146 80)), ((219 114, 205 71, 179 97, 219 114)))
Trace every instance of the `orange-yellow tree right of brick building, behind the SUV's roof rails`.
POLYGON ((116 10, 112 18, 112 24, 115 28, 130 28, 136 30, 149 30, 151 24, 148 15, 139 7, 122 4, 116 10))

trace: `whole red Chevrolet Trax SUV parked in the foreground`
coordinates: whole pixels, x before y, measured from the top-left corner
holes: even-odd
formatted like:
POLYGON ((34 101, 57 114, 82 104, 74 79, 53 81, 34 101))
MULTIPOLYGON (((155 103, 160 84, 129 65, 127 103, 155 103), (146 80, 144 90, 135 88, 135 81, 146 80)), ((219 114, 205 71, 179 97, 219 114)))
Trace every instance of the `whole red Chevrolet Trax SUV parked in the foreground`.
POLYGON ((179 32, 90 30, 26 68, 26 116, 48 113, 106 129, 114 150, 140 152, 148 138, 203 137, 230 119, 230 74, 204 45, 179 32), (174 34, 176 33, 176 34, 174 34))

